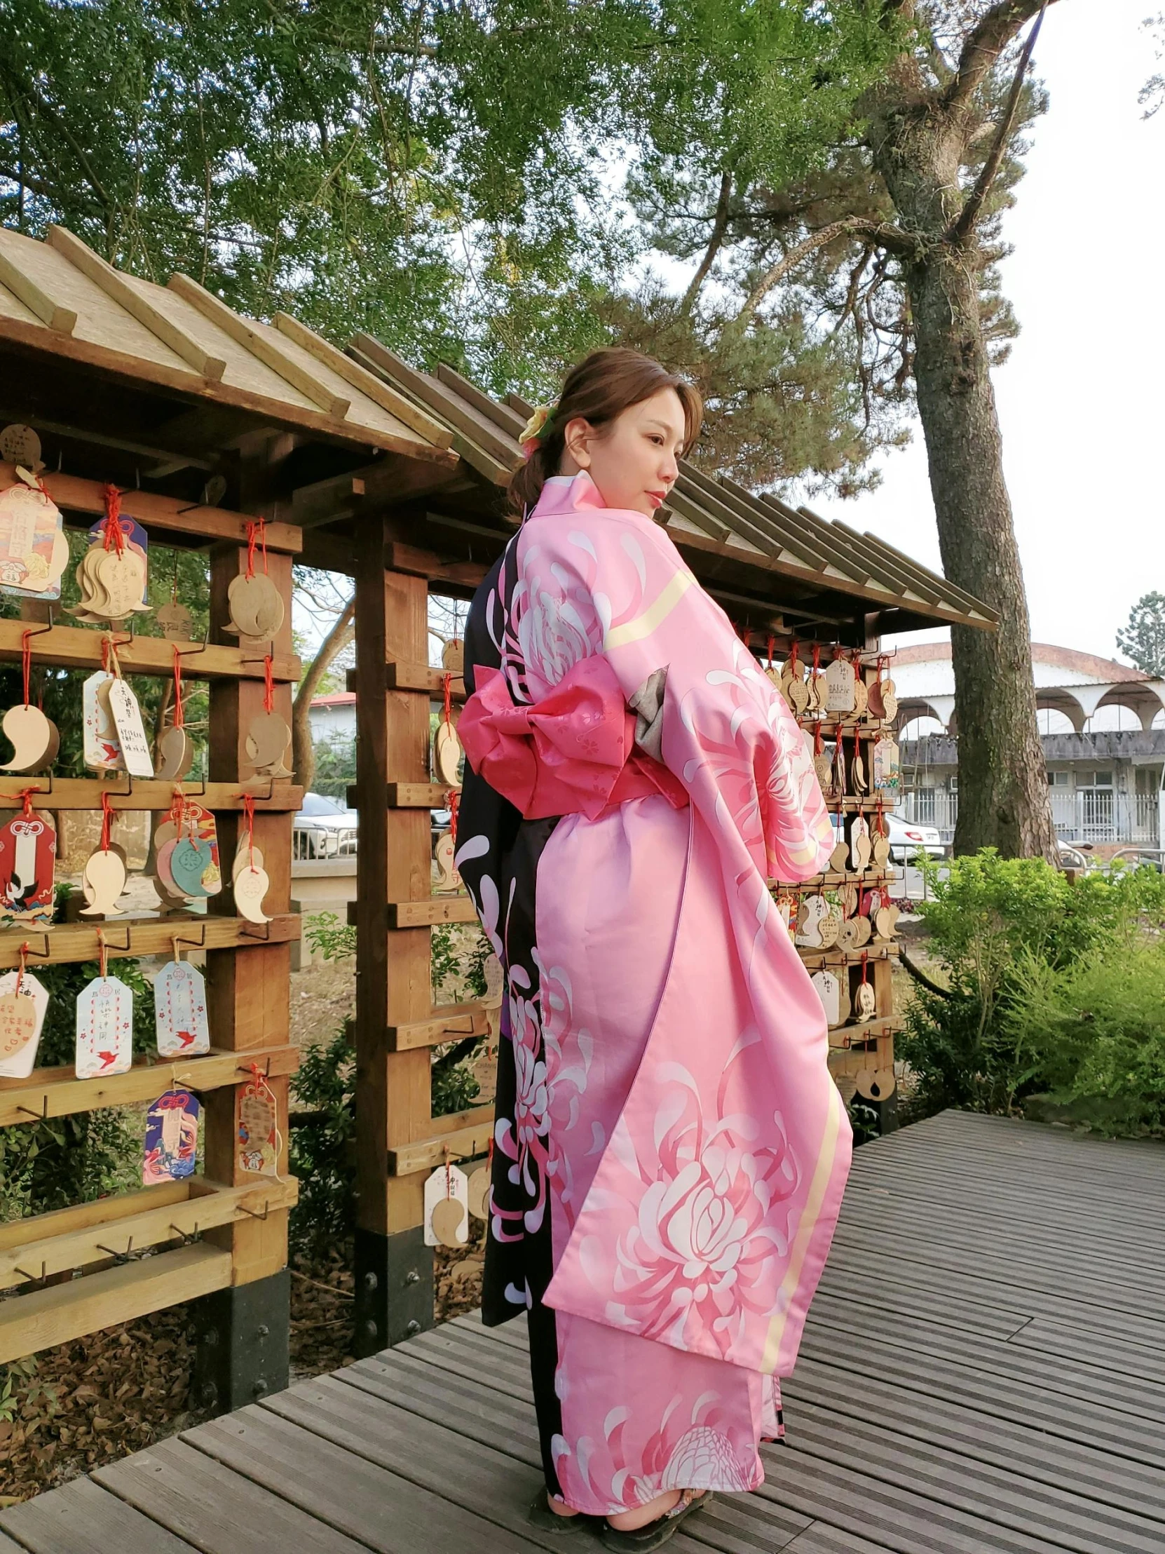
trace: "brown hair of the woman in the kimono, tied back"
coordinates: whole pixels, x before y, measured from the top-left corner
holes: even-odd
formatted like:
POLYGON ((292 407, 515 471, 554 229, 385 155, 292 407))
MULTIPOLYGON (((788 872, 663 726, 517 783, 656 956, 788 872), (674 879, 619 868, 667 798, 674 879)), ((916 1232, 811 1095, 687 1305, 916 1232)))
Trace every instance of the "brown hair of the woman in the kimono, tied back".
POLYGON ((606 426, 642 404, 660 388, 674 388, 683 406, 683 451, 696 441, 704 416, 699 390, 693 388, 677 373, 669 373, 651 356, 632 351, 626 345, 610 345, 592 351, 578 367, 572 367, 555 413, 537 448, 509 477, 509 508, 522 517, 537 502, 547 479, 558 474, 565 449, 567 426, 581 416, 590 426, 606 426))

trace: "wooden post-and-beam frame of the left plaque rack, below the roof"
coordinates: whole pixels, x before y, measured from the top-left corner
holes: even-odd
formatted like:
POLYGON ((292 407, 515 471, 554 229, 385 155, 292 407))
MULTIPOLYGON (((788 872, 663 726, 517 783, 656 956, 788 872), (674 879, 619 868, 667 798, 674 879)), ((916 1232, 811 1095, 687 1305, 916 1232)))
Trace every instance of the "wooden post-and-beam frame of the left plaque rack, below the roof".
MULTIPOLYGON (((93 514, 104 511, 99 482, 62 474, 45 479, 67 522, 78 514, 87 527, 93 514)), ((0 466, 0 486, 9 482, 11 468, 0 466)), ((266 656, 272 657, 275 710, 290 723, 290 682, 300 674, 290 639, 292 556, 300 550, 300 531, 287 524, 267 527, 267 573, 283 595, 284 626, 270 643, 239 645, 222 626, 228 620, 227 587, 247 561, 247 514, 132 491, 124 496, 123 511, 162 542, 180 535, 185 544, 213 547, 208 639, 177 645, 183 676, 210 685, 210 777, 205 783, 186 782, 182 789, 214 811, 224 873, 242 824, 242 794, 252 796, 255 844, 270 880, 264 906, 272 922, 256 926, 233 915, 227 889, 210 898, 205 915, 166 914, 103 925, 110 959, 168 956, 176 937, 186 949, 205 951, 210 1054, 174 1061, 138 1058, 129 1072, 95 1080, 78 1080, 71 1064, 39 1068, 23 1080, 0 1078, 0 1127, 149 1102, 174 1085, 190 1088, 203 1105, 207 1172, 0 1226, 0 1363, 176 1302, 214 1296, 225 1302, 214 1307, 221 1360, 217 1380, 202 1378, 199 1402, 219 1409, 253 1400, 231 1394, 230 1371, 239 1352, 255 1343, 253 1321, 247 1329, 238 1318, 238 1302, 231 1304, 236 1294, 247 1294, 250 1310, 266 1302, 264 1330, 275 1332, 276 1344, 281 1335, 283 1355, 272 1355, 270 1385, 281 1385, 287 1366, 287 1212, 297 1198, 286 1170, 287 1085, 298 1066, 289 1041, 289 974, 290 943, 300 934, 300 920, 290 912, 290 833, 303 789, 290 780, 256 775, 244 741, 250 720, 263 710, 266 656), (276 1099, 284 1141, 278 1178, 238 1166, 238 1103, 255 1072, 264 1075, 276 1099), (76 1271, 81 1277, 73 1277, 76 1271)), ((0 622, 0 659, 19 660, 26 629, 25 620, 0 622)), ((96 668, 104 634, 54 623, 45 629, 42 623, 31 639, 33 662, 96 668)), ((126 673, 172 674, 174 643, 121 629, 110 634, 126 673)), ((76 695, 79 716, 79 684, 76 695)), ((5 774, 0 814, 20 805, 25 788, 36 789, 33 802, 45 810, 99 811, 107 794, 115 811, 157 814, 174 800, 172 783, 124 772, 115 779, 5 774)), ((98 926, 82 922, 45 931, 2 929, 0 968, 19 965, 25 942, 33 971, 43 963, 95 960, 98 926)))

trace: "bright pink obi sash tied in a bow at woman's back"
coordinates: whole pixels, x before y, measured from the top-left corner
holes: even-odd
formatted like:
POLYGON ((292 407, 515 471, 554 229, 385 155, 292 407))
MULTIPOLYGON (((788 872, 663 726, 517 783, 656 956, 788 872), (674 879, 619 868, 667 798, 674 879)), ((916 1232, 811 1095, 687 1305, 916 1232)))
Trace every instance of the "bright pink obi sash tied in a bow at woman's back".
POLYGON ((478 777, 527 821, 586 814, 662 793, 676 808, 683 785, 635 749, 635 715, 604 657, 579 659, 537 706, 519 707, 500 670, 474 670, 477 690, 457 733, 478 777))

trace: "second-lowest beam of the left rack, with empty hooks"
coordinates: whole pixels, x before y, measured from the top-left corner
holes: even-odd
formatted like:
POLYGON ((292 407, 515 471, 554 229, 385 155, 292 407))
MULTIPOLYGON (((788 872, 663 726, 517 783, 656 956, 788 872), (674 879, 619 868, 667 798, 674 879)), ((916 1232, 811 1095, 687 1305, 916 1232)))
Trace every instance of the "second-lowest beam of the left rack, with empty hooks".
POLYGON ((233 1225, 236 1220, 255 1215, 264 1217, 272 1209, 290 1209, 298 1200, 298 1183, 294 1176, 286 1176, 280 1181, 224 1187, 202 1178, 200 1190, 188 1195, 185 1201, 176 1201, 163 1192, 160 1201, 143 1204, 140 1200, 151 1198, 151 1192, 152 1189, 127 1193, 134 1209, 121 1215, 109 1211, 107 1198, 85 1204, 103 1212, 95 1214, 92 1223, 68 1231, 61 1225, 47 1225, 51 1215, 20 1220, 23 1239, 0 1249, 0 1290, 36 1284, 53 1274, 103 1262, 110 1256, 129 1256, 163 1242, 199 1235, 219 1225, 233 1225))

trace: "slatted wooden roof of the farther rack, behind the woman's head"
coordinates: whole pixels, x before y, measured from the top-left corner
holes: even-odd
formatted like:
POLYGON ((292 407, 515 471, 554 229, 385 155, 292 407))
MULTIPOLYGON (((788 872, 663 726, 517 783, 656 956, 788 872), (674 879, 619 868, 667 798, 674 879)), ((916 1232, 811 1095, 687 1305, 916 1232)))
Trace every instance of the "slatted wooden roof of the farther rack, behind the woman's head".
MULTIPOLYGON (((368 334, 353 339, 350 354, 418 409, 441 420, 450 430, 454 451, 485 482, 499 488, 506 485, 520 457, 517 437, 531 410, 523 399, 513 393, 505 401, 492 399, 444 364, 433 375, 416 371, 368 334)), ((789 587, 780 591, 792 629, 798 629, 802 617, 806 626, 828 622, 828 611, 847 600, 850 609, 882 612, 882 631, 918 629, 932 622, 991 629, 999 622, 989 605, 912 561, 878 535, 828 522, 805 507, 794 510, 774 496, 755 496, 725 477, 704 474, 688 460, 680 465, 680 477, 659 521, 688 559, 693 552, 719 555, 739 563, 738 577, 752 575, 753 587, 756 569, 795 586, 792 592, 789 587), (816 603, 825 614, 812 608, 798 612, 789 608, 784 595, 791 603, 805 595, 806 606, 816 603)), ((746 603, 741 595, 727 597, 746 603)))

